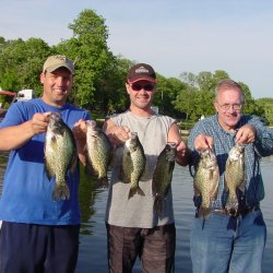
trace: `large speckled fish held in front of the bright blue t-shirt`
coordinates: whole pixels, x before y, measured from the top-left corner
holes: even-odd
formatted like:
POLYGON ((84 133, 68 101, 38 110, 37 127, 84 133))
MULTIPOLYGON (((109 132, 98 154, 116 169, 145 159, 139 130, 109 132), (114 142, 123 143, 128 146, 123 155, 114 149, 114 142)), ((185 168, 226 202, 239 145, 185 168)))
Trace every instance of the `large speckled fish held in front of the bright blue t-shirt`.
POLYGON ((74 173, 78 154, 72 130, 63 122, 59 114, 49 116, 45 139, 45 168, 49 180, 56 178, 52 200, 69 200, 67 183, 68 171, 74 173))

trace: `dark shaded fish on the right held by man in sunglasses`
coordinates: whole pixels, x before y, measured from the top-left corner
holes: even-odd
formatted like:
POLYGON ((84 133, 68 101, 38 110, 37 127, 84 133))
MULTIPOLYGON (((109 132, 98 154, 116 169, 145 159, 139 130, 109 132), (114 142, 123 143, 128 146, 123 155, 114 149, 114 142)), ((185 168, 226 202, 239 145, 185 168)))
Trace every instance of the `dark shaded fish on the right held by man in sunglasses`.
POLYGON ((163 202, 170 188, 175 158, 176 143, 168 142, 157 157, 152 179, 152 188, 155 195, 154 211, 158 214, 163 211, 163 202))

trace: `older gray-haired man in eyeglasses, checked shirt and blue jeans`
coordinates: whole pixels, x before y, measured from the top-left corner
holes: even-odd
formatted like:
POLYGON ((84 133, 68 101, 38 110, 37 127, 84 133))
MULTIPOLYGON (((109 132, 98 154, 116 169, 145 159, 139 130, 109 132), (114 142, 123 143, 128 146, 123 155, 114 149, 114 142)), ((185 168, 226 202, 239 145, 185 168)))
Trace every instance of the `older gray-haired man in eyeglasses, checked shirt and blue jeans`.
POLYGON ((190 237, 193 273, 262 272, 266 227, 260 210, 264 190, 259 159, 273 154, 273 131, 260 118, 242 115, 244 104, 238 83, 219 81, 214 98, 216 115, 200 120, 189 136, 193 165, 197 166, 200 153, 211 147, 219 168, 218 193, 211 202, 209 217, 199 214, 201 197, 193 199, 197 206, 190 237), (245 147, 244 187, 236 190, 238 207, 229 210, 226 162, 236 143, 245 147))

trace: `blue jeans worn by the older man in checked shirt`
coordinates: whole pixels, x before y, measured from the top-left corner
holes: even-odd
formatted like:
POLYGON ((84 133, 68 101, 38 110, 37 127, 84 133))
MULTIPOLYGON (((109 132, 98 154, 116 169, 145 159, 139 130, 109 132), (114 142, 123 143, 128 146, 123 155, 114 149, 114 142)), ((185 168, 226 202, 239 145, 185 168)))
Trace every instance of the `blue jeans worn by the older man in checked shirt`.
POLYGON ((211 213, 194 218, 190 235, 193 273, 261 273, 266 227, 261 211, 245 216, 211 213))

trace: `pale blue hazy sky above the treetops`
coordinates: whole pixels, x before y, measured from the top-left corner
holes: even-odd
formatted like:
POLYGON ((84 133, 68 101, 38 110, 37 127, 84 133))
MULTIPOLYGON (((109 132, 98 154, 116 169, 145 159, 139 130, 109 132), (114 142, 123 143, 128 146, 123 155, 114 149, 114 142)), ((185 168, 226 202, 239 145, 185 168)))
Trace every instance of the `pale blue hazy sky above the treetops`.
POLYGON ((272 0, 1 0, 0 36, 57 45, 85 9, 105 19, 116 56, 166 78, 224 70, 273 97, 272 0))

